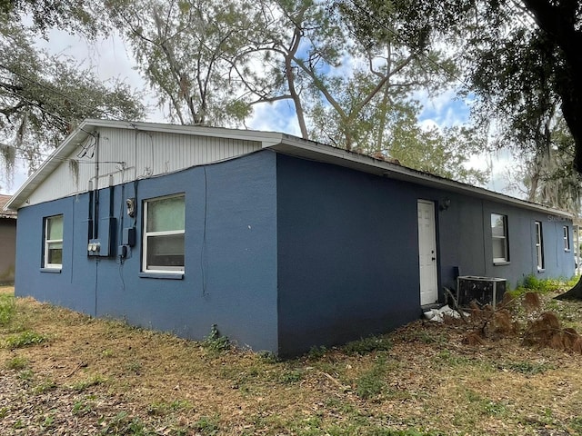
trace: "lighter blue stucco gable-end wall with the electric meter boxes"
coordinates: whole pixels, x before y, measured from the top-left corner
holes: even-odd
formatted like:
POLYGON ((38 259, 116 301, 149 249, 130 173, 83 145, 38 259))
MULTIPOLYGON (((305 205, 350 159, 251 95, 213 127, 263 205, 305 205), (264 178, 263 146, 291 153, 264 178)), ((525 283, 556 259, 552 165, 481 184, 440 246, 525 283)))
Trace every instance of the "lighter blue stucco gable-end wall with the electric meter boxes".
POLYGON ((22 208, 16 294, 197 340, 216 324, 240 346, 276 350, 275 158, 250 154, 101 190, 102 219, 114 193, 117 233, 133 224, 125 199, 136 193, 137 243, 123 263, 87 257, 88 194, 22 208), (140 277, 141 202, 173 193, 186 195, 184 278, 140 277), (41 272, 43 217, 57 213, 64 215, 63 269, 41 272))

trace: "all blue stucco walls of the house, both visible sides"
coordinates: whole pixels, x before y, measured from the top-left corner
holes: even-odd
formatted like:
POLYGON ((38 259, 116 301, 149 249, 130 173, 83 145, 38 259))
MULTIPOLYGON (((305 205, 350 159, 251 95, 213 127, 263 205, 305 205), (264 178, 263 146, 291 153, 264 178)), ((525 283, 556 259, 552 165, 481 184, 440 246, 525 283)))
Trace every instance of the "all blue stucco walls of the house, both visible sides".
POLYGON ((239 346, 292 356, 421 315, 418 199, 436 203, 439 289, 455 287, 456 269, 511 286, 527 274, 574 272, 562 239, 564 225, 572 234, 570 221, 268 150, 103 189, 102 219, 110 194, 115 247, 121 229, 134 225, 125 199, 137 199, 128 258, 87 257, 86 193, 25 207, 18 214, 17 295, 196 340, 216 324, 239 346), (186 195, 184 278, 140 276, 142 201, 173 193, 186 195), (445 198, 450 207, 439 211, 445 198), (43 272, 43 218, 59 213, 63 269, 43 272), (492 262, 490 213, 507 214, 507 265, 492 262), (545 272, 536 269, 535 221, 543 225, 545 272))

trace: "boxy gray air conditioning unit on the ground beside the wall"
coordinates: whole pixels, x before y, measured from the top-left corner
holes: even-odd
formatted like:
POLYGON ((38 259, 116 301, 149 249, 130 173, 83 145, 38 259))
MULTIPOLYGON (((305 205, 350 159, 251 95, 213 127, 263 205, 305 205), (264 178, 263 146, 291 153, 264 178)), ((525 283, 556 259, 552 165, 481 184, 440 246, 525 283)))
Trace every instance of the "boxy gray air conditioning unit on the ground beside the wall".
POLYGON ((503 300, 506 282, 506 279, 497 277, 460 275, 457 277, 457 301, 461 306, 468 306, 476 300, 481 306, 491 304, 495 310, 497 303, 503 300))

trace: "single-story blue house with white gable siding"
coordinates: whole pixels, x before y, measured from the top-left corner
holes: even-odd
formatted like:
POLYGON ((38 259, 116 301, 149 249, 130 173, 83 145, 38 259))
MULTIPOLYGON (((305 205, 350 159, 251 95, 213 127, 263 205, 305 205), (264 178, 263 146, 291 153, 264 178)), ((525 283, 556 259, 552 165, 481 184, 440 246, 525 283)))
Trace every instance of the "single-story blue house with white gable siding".
POLYGON ((8 207, 17 295, 281 356, 574 273, 568 213, 288 134, 87 120, 8 207))

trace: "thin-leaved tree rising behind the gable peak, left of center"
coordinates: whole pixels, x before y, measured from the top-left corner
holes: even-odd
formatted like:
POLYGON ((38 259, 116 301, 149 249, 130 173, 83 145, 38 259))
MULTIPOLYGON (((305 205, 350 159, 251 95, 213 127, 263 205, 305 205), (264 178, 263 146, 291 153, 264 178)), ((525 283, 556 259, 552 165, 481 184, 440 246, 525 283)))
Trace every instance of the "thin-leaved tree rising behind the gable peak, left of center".
POLYGON ((142 0, 106 6, 173 121, 224 126, 250 114, 242 83, 255 74, 249 40, 257 40, 261 28, 249 5, 142 0))

